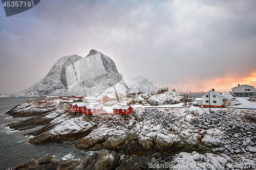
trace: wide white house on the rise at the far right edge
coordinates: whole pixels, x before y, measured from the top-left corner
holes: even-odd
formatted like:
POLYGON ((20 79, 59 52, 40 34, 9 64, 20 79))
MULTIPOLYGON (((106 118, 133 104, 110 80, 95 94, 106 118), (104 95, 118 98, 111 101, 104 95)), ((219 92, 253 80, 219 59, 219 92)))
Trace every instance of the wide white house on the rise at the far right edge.
POLYGON ((240 85, 238 84, 237 87, 232 88, 232 94, 236 97, 249 97, 255 95, 256 90, 254 86, 249 85, 240 85))

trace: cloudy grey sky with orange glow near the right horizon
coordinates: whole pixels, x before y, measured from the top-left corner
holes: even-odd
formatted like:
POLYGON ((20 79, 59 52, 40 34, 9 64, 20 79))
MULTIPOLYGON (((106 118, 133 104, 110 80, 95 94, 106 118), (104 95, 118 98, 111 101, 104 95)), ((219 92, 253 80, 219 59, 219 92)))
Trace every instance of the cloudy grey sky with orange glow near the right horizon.
POLYGON ((91 49, 125 77, 178 91, 256 86, 255 8, 254 0, 42 0, 6 17, 1 5, 0 93, 29 88, 61 57, 91 49))

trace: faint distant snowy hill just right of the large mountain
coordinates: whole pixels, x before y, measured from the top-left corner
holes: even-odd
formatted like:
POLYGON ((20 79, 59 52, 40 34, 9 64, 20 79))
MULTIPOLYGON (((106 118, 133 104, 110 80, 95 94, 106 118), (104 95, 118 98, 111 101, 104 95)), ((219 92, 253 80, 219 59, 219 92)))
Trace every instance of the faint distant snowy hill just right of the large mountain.
POLYGON ((158 88, 156 86, 153 86, 153 84, 148 81, 147 79, 138 76, 135 79, 125 79, 125 83, 128 86, 128 88, 131 90, 131 92, 157 92, 158 88))

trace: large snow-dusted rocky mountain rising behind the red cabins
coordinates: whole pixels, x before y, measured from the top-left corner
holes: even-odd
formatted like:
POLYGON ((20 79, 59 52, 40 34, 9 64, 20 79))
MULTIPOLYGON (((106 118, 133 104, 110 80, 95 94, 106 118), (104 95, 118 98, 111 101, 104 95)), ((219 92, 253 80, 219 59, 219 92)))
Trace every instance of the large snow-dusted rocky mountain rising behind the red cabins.
POLYGON ((88 95, 110 88, 117 93, 130 91, 114 61, 91 50, 84 58, 77 55, 60 58, 44 78, 11 96, 88 95))

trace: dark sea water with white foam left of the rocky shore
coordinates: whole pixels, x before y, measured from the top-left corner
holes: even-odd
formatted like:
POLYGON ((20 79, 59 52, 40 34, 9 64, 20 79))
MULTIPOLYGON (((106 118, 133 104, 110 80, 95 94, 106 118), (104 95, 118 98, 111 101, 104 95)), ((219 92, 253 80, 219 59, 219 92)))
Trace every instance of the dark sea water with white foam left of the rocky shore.
POLYGON ((92 152, 78 150, 73 147, 75 142, 62 144, 39 144, 28 143, 30 136, 24 134, 37 129, 26 131, 14 131, 5 125, 24 118, 12 118, 4 112, 18 104, 23 104, 27 99, 38 98, 0 98, 0 169, 11 169, 21 163, 27 163, 45 156, 52 156, 55 160, 68 158, 81 159, 92 152))

